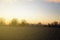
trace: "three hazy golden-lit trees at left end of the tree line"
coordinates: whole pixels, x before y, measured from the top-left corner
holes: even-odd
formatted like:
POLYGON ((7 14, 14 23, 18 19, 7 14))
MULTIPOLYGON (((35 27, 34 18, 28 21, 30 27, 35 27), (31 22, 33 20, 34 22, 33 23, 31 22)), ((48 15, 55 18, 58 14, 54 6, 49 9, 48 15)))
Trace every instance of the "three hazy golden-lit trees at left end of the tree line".
MULTIPOLYGON (((17 26, 17 25, 25 25, 25 24, 27 24, 26 20, 22 20, 21 23, 18 23, 18 20, 16 18, 13 18, 8 25, 9 26, 17 26)), ((6 22, 5 22, 5 19, 0 18, 0 26, 3 26, 3 25, 4 26, 7 25, 6 22)))

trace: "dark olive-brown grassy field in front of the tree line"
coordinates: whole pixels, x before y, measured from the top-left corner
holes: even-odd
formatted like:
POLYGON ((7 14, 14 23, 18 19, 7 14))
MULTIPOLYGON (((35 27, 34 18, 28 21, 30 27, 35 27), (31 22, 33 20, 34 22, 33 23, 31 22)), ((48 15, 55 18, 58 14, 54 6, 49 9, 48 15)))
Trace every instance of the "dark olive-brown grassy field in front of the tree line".
POLYGON ((0 27, 0 40, 60 40, 60 28, 0 27))

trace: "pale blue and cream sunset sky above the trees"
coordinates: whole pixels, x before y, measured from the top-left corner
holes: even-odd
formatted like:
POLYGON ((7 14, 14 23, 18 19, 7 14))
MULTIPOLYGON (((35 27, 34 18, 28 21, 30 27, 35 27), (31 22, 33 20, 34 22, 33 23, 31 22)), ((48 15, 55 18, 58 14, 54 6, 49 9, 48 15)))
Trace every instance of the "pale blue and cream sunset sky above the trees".
POLYGON ((0 0, 0 17, 30 23, 60 22, 60 0, 0 0))

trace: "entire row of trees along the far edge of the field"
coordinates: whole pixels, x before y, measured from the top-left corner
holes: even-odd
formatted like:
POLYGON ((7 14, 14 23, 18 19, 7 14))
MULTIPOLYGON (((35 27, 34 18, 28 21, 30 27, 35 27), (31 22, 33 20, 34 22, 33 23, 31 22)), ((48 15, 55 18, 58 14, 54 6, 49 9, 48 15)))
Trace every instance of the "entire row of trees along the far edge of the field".
POLYGON ((5 19, 0 18, 0 26, 36 26, 36 27, 42 26, 42 27, 59 27, 60 28, 60 23, 57 21, 54 21, 48 24, 42 24, 41 22, 37 24, 29 24, 26 22, 26 20, 22 20, 21 23, 18 23, 18 20, 16 18, 13 18, 11 22, 8 25, 6 25, 5 19))

